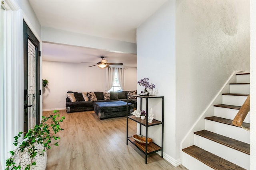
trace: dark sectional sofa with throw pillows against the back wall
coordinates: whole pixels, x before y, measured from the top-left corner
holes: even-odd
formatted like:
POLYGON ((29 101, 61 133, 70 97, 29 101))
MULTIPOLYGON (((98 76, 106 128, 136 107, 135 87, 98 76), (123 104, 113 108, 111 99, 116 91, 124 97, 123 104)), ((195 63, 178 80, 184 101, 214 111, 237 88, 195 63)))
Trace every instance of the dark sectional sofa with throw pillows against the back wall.
MULTIPOLYGON (((106 100, 104 98, 103 92, 94 92, 96 96, 96 100, 91 101, 89 98, 89 101, 85 101, 82 95, 82 92, 67 92, 67 94, 74 94, 74 97, 76 98, 75 102, 71 102, 70 98, 66 98, 66 112, 72 113, 77 111, 90 111, 94 110, 94 102, 112 102, 112 101, 118 101, 122 100, 124 102, 127 101, 127 94, 134 94, 135 91, 122 91, 122 92, 110 92, 110 98, 106 100)), ((85 93, 86 94, 86 93, 85 93)), ((134 104, 134 107, 137 106, 137 101, 134 98, 128 99, 129 103, 134 104)))

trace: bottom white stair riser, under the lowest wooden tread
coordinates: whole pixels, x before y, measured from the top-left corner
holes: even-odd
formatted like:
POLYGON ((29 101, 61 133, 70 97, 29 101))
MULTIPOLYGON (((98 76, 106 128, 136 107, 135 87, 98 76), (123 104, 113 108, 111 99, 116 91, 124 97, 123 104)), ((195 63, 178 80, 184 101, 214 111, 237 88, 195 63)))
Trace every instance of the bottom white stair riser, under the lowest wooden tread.
POLYGON ((182 152, 182 165, 189 170, 213 170, 210 166, 207 166, 185 152, 182 152))

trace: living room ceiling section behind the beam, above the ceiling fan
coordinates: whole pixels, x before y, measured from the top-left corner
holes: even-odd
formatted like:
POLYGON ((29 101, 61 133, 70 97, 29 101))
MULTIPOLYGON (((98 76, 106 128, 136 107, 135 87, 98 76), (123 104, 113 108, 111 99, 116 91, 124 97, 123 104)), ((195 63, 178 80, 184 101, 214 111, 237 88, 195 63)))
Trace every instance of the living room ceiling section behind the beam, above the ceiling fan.
MULTIPOLYGON (((108 63, 123 63, 125 67, 137 67, 137 57, 135 54, 114 53, 99 49, 86 47, 77 47, 69 45, 59 45, 51 43, 42 43, 43 60, 66 63, 98 63, 100 56, 108 60, 108 63)), ((84 64, 92 66, 94 64, 84 64)))

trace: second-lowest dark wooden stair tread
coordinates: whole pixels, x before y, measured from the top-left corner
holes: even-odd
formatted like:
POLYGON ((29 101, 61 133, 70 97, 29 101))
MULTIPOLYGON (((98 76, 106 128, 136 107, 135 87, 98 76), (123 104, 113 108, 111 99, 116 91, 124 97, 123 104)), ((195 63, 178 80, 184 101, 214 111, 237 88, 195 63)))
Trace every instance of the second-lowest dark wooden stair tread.
POLYGON ((250 155, 250 144, 248 143, 244 143, 244 142, 241 142, 229 137, 225 137, 223 135, 219 135, 217 133, 213 133, 211 131, 206 131, 206 130, 197 131, 197 132, 194 132, 194 134, 250 155))

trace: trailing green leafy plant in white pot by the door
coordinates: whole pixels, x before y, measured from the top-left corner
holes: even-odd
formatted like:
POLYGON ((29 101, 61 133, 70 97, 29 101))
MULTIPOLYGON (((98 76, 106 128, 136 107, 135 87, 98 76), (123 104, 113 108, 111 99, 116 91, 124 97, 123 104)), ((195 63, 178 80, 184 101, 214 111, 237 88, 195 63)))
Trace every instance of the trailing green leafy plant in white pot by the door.
POLYGON ((17 170, 21 168, 21 161, 16 164, 17 158, 19 158, 21 152, 28 152, 30 156, 30 163, 26 165, 25 170, 30 170, 30 167, 36 165, 34 157, 37 154, 43 155, 46 150, 51 149, 50 145, 58 146, 58 142, 52 143, 52 139, 58 140, 59 131, 63 131, 60 127, 60 122, 62 122, 65 117, 61 117, 57 114, 58 110, 54 110, 52 113, 46 117, 42 116, 42 121, 39 125, 36 125, 33 129, 29 129, 28 132, 19 132, 18 135, 14 137, 14 146, 17 148, 10 151, 11 157, 6 160, 5 170, 17 170), (18 139, 22 138, 24 134, 24 141, 19 142, 18 139), (40 152, 36 149, 36 145, 42 145, 44 149, 40 152))

